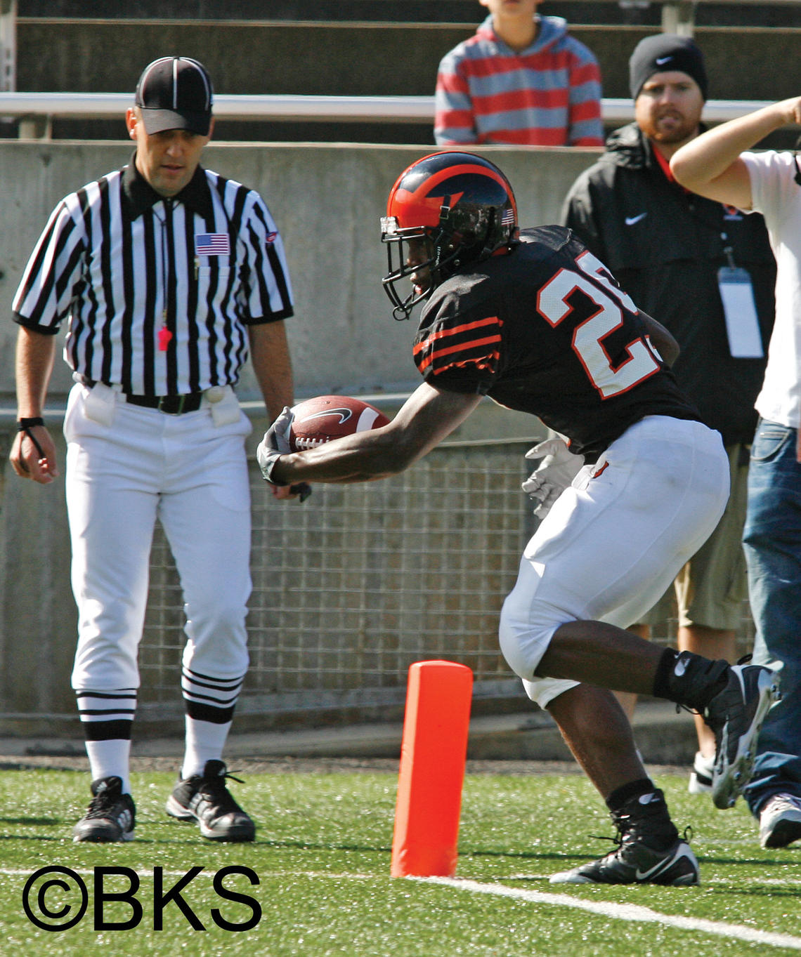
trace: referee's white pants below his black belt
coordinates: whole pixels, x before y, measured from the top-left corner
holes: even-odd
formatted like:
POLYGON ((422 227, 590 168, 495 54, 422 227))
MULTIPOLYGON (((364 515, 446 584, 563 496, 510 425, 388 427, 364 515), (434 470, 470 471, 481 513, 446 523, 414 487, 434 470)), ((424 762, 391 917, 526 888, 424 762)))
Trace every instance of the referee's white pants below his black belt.
MULTIPOLYGON (((75 386, 64 419, 66 497, 79 640, 76 690, 138 688, 137 649, 158 518, 181 579, 187 623, 183 663, 218 679, 247 669, 250 492, 244 438, 250 423, 216 426, 197 412, 166 415, 112 398, 113 421, 86 414, 75 386)), ((178 676, 176 675, 176 683, 178 676)))

